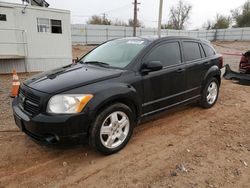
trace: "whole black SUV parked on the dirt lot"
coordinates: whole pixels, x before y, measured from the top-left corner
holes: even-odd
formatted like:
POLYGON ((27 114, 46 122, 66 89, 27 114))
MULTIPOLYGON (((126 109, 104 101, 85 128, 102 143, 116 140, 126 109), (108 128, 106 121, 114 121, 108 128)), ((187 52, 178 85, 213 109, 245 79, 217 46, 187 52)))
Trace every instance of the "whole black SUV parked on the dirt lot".
POLYGON ((25 81, 13 101, 15 122, 40 142, 87 136, 97 151, 112 154, 147 116, 195 101, 212 107, 222 64, 222 56, 205 40, 107 41, 76 64, 25 81))

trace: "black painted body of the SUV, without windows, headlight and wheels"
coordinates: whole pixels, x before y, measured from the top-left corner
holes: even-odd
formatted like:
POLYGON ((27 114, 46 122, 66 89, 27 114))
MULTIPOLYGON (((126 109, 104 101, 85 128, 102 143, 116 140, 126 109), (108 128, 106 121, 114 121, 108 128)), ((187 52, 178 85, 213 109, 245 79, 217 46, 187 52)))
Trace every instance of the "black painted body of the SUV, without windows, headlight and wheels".
POLYGON ((16 124, 32 138, 45 142, 88 135, 96 115, 109 104, 125 103, 139 121, 156 112, 197 101, 207 79, 216 77, 220 81, 221 56, 214 51, 208 57, 203 49, 203 45, 211 46, 207 41, 190 37, 129 40, 134 39, 145 41, 146 46, 124 68, 77 63, 25 81, 13 101, 16 124), (199 59, 185 60, 185 41, 197 43, 199 59), (168 43, 178 46, 179 62, 158 71, 143 72, 149 54, 168 43), (56 94, 93 94, 94 97, 81 113, 50 114, 47 104, 56 94))

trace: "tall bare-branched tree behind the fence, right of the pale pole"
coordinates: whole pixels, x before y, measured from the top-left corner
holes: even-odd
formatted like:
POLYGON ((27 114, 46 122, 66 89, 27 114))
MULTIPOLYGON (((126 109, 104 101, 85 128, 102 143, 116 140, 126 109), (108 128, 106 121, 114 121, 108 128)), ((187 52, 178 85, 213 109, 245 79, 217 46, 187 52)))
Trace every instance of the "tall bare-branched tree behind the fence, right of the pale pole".
POLYGON ((168 25, 172 25, 173 29, 184 29, 185 24, 190 18, 192 5, 179 0, 176 7, 170 9, 170 21, 168 25))

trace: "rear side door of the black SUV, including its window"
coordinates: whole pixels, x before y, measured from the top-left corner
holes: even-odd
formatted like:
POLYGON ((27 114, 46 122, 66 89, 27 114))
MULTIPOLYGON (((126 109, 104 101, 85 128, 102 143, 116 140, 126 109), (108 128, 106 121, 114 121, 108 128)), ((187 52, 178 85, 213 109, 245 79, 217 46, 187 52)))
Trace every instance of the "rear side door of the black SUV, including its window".
POLYGON ((205 53, 198 41, 182 41, 184 64, 186 65, 187 91, 185 98, 200 95, 201 83, 210 63, 205 58, 205 53))

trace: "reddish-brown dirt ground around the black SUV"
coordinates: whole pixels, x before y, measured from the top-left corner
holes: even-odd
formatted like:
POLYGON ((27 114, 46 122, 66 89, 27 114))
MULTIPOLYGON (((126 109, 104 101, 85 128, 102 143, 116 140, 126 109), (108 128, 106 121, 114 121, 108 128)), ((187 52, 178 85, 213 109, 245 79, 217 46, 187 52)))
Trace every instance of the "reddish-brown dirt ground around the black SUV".
MULTIPOLYGON (((219 53, 249 45, 214 43, 219 53)), ((238 59, 225 56, 224 64, 237 68, 238 59)), ((250 187, 249 86, 223 80, 213 108, 191 105, 157 115, 111 156, 87 144, 34 143, 14 124, 10 86, 11 76, 0 75, 0 187, 250 187)))

